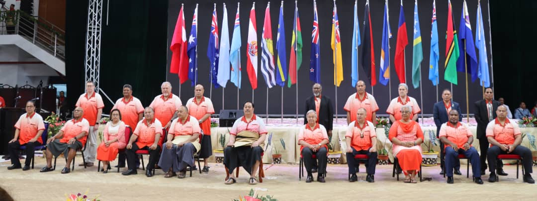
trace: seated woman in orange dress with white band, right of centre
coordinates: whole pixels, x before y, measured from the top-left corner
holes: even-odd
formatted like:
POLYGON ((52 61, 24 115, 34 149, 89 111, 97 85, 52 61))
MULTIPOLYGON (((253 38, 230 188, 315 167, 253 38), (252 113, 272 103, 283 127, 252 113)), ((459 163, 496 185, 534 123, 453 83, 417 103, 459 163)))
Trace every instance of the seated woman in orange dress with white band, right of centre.
POLYGON ((393 143, 393 154, 397 157, 405 175, 405 183, 416 183, 416 174, 422 164, 422 128, 410 119, 412 107, 401 107, 402 119, 391 125, 389 139, 393 143))

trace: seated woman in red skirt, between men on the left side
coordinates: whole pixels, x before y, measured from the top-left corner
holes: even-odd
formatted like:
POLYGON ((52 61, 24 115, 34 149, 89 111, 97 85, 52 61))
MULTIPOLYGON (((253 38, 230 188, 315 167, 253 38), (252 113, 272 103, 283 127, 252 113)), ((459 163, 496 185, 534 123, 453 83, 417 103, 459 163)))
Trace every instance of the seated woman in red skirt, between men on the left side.
POLYGON ((97 160, 103 161, 103 173, 108 173, 110 161, 115 160, 119 149, 124 149, 125 142, 125 123, 121 121, 121 112, 118 109, 110 113, 111 121, 104 127, 103 142, 97 148, 97 160))

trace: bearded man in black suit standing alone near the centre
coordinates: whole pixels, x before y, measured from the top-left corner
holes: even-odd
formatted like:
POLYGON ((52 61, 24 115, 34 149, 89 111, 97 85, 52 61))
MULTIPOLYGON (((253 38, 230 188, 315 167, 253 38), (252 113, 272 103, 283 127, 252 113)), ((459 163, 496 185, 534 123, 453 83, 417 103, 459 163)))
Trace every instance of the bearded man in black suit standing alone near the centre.
MULTIPOLYGON (((328 136, 332 136, 333 106, 332 100, 328 96, 322 96, 323 87, 319 83, 313 85, 313 96, 306 99, 306 109, 304 112, 314 110, 317 112, 317 121, 326 128, 328 136)), ((304 113, 304 124, 307 124, 306 114, 304 113)), ((317 163, 314 164, 312 173, 317 172, 317 163)))

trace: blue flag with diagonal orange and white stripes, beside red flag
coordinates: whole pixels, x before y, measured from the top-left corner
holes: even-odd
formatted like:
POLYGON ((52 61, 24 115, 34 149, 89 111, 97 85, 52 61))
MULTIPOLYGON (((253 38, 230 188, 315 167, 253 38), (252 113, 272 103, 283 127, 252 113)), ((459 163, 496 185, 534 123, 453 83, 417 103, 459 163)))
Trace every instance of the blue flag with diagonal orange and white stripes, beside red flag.
POLYGON ((388 21, 388 1, 384 3, 384 19, 382 19, 382 46, 380 49, 379 82, 387 85, 390 81, 390 23, 388 21))

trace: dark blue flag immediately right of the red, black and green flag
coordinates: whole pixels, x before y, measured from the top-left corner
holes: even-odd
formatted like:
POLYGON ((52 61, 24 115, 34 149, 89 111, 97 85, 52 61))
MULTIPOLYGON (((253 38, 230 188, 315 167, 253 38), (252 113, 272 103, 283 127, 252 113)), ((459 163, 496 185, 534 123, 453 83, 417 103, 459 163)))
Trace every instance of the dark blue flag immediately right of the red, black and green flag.
POLYGON ((474 36, 471 34, 470 17, 468 16, 468 6, 466 6, 466 1, 464 1, 462 6, 459 33, 461 37, 459 38, 461 56, 459 56, 459 60, 457 60, 457 71, 467 71, 471 76, 471 81, 474 82, 477 79, 477 56, 475 54, 474 36), (465 56, 463 55, 466 55, 466 61, 465 56))

